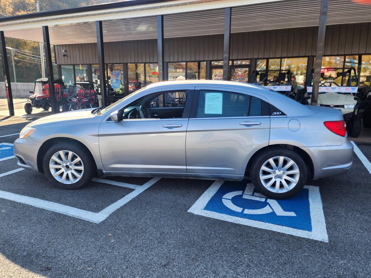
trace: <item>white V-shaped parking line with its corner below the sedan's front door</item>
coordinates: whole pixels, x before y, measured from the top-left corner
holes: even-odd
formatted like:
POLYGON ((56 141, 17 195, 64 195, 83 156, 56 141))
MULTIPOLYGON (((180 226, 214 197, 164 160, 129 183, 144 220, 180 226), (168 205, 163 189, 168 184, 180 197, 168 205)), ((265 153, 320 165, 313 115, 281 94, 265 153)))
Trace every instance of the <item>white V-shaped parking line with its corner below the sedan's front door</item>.
MULTIPOLYGON (((21 170, 18 170, 18 171, 21 171, 21 170)), ((7 191, 0 191, 0 198, 18 202, 18 203, 24 203, 26 205, 35 206, 36 208, 42 208, 48 211, 58 212, 60 214, 72 216, 75 218, 83 219, 83 220, 98 224, 102 222, 104 219, 106 219, 109 215, 111 215, 112 212, 115 212, 117 209, 121 208, 127 202, 129 202, 130 200, 138 196, 140 193, 145 191, 147 188, 149 188, 154 183, 158 182, 160 179, 161 178, 153 178, 150 181, 144 183, 144 185, 135 185, 136 189, 134 191, 124 196, 123 198, 119 199, 118 201, 112 203, 105 209, 102 209, 102 211, 100 212, 86 211, 84 209, 73 208, 72 206, 66 206, 60 203, 45 201, 42 199, 33 198, 29 196, 23 196, 23 195, 19 195, 19 194, 7 192, 7 191)), ((108 183, 108 182, 105 182, 105 183, 108 183)), ((128 184, 128 183, 125 183, 125 184, 128 184)))

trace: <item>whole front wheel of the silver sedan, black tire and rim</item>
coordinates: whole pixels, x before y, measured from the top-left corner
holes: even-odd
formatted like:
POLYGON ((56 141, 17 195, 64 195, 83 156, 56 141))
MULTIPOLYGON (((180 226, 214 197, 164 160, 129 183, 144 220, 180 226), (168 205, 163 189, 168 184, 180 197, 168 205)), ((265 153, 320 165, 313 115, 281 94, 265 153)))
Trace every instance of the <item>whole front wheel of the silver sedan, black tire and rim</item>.
POLYGON ((88 183, 92 179, 93 174, 96 171, 95 163, 89 151, 86 148, 81 148, 79 144, 71 142, 60 142, 56 145, 53 145, 49 150, 47 150, 43 159, 43 169, 49 181, 52 182, 54 186, 61 189, 77 189, 86 185, 86 183, 88 183), (62 162, 62 156, 59 152, 63 153, 67 162, 73 162, 73 160, 76 160, 76 158, 80 158, 81 160, 75 162, 75 164, 60 163, 62 162), (73 154, 68 161, 69 152, 73 154), (57 159, 52 159, 52 156, 56 156, 57 159), (59 160, 60 162, 57 162, 57 160, 59 160), (50 167, 49 164, 55 166, 50 167), (55 178, 52 172, 54 174, 60 172, 60 174, 56 175, 55 178), (75 173, 81 175, 81 177, 79 178, 78 175, 75 175, 75 173), (62 182, 63 177, 65 177, 64 182, 62 182), (71 179, 73 181, 72 183, 71 179))

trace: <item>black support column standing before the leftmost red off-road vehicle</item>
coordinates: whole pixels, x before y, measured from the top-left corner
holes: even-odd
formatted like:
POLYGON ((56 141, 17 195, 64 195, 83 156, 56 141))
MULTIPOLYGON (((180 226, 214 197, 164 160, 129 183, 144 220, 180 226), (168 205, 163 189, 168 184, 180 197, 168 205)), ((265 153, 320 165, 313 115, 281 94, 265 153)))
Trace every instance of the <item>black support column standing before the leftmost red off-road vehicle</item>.
POLYGON ((57 109, 57 100, 55 97, 52 53, 50 51, 49 28, 47 26, 43 26, 43 37, 46 60, 46 75, 49 84, 50 105, 52 106, 52 113, 55 114, 59 112, 59 109, 57 109))

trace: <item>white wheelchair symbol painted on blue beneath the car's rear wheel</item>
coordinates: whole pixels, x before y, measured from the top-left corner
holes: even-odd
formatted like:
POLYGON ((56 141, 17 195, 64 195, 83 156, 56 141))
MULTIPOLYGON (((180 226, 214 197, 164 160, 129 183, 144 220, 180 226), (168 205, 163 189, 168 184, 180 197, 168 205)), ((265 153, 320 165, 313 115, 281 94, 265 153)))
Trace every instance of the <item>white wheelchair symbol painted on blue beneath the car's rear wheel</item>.
POLYGON ((264 195, 257 192, 254 193, 254 187, 252 183, 247 183, 244 192, 232 191, 226 193, 222 197, 221 201, 227 208, 232 209, 232 211, 243 212, 244 214, 269 214, 273 211, 278 216, 296 216, 295 212, 293 211, 284 211, 276 200, 268 199, 264 195), (263 208, 258 209, 240 208, 239 206, 234 205, 232 202, 232 198, 238 195, 242 195, 242 198, 244 199, 266 202, 267 205, 263 208))

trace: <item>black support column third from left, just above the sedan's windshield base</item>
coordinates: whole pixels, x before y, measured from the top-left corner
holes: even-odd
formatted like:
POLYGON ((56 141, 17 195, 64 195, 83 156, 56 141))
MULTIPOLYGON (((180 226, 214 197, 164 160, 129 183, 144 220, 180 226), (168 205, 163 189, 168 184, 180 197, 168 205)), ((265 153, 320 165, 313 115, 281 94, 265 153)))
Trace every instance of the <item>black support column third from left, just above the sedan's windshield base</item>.
POLYGON ((104 45, 103 45, 103 28, 102 21, 95 21, 96 26, 96 46, 98 49, 98 64, 99 64, 99 82, 101 83, 102 106, 108 104, 106 72, 104 63, 104 45))

